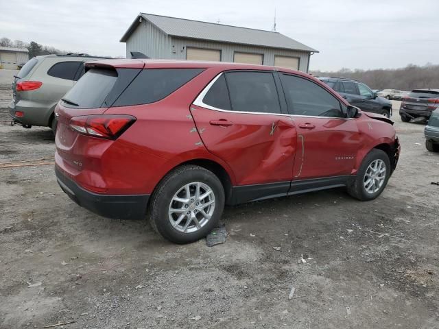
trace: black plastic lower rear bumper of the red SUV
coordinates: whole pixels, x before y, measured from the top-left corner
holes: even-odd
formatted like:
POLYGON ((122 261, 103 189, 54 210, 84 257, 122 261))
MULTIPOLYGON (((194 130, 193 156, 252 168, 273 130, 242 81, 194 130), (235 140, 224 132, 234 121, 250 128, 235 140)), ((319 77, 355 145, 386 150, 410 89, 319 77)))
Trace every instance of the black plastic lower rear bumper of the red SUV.
POLYGON ((143 219, 150 195, 104 195, 86 191, 55 167, 62 191, 78 205, 114 219, 143 219))

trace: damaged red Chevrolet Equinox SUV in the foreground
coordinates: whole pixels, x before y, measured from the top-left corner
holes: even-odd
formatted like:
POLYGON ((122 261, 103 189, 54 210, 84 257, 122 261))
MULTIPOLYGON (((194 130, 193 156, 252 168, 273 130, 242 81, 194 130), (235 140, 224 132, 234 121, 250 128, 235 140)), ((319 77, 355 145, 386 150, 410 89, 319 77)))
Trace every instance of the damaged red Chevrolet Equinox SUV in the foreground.
POLYGON ((75 202, 206 236, 224 204, 346 186, 375 199, 396 167, 392 121, 289 69, 103 60, 58 103, 56 175, 75 202))

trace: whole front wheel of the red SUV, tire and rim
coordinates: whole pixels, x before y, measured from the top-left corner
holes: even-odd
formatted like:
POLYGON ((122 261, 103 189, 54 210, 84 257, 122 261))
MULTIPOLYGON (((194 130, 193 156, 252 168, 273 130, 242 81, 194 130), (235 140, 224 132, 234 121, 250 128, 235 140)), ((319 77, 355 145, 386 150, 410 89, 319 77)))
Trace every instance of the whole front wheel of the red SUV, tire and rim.
POLYGON ((388 155, 381 149, 372 149, 361 162, 357 176, 348 185, 348 193, 361 201, 375 199, 383 192, 390 171, 388 155))

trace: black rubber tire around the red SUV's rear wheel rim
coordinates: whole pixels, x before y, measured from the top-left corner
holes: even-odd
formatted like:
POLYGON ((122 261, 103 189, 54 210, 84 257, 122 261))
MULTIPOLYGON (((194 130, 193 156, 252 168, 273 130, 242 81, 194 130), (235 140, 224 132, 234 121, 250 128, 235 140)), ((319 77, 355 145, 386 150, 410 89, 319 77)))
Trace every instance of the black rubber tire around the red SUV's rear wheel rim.
POLYGON ((211 171, 195 165, 183 165, 168 173, 158 184, 150 199, 148 217, 152 228, 173 243, 191 243, 204 238, 217 226, 224 210, 224 188, 211 171), (211 218, 195 232, 180 232, 171 225, 168 210, 172 198, 182 186, 202 182, 209 186, 215 196, 215 208, 211 218))

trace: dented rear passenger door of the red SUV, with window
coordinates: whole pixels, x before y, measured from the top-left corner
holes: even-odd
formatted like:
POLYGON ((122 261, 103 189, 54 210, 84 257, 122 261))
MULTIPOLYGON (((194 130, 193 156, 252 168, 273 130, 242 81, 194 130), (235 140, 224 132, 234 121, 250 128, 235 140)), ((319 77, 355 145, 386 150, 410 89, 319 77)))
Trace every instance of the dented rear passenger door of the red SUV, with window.
POLYGON ((287 193, 296 152, 294 122, 277 86, 271 71, 221 73, 191 106, 204 145, 228 163, 238 185, 275 183, 262 195, 287 193))

